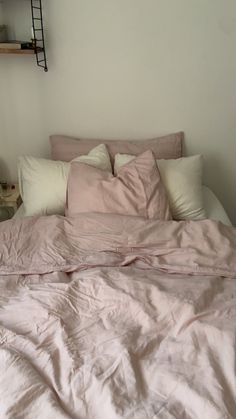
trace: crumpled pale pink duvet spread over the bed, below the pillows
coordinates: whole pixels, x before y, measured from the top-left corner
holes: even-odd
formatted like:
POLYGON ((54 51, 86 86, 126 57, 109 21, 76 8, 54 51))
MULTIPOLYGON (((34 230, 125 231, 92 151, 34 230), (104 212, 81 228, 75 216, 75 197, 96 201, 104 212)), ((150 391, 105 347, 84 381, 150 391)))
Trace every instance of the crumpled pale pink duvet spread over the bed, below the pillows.
POLYGON ((0 224, 0 418, 236 418, 236 229, 0 224))

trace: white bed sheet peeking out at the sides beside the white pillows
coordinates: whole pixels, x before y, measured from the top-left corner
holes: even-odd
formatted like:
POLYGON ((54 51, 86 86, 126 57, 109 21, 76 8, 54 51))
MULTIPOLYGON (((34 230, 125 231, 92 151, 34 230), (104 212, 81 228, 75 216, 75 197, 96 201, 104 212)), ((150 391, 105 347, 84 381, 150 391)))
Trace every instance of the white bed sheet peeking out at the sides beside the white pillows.
MULTIPOLYGON (((207 186, 203 186, 203 197, 205 203, 205 210, 207 213, 207 218, 215 221, 221 221, 223 224, 232 226, 232 223, 226 214, 226 211, 216 197, 214 192, 207 186)), ((13 218, 22 218, 25 216, 24 205, 22 204, 17 210, 13 218)))

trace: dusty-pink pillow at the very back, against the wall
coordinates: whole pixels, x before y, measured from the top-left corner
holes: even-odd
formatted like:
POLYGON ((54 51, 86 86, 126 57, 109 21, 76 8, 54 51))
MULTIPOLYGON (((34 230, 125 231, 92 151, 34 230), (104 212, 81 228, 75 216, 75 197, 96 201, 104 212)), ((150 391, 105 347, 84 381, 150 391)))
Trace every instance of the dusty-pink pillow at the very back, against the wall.
POLYGON ((138 156, 147 150, 152 150, 156 159, 178 159, 182 157, 183 140, 183 132, 150 140, 96 140, 65 135, 50 137, 52 159, 61 161, 71 161, 80 155, 88 154, 92 148, 101 143, 107 146, 112 161, 118 153, 138 156))

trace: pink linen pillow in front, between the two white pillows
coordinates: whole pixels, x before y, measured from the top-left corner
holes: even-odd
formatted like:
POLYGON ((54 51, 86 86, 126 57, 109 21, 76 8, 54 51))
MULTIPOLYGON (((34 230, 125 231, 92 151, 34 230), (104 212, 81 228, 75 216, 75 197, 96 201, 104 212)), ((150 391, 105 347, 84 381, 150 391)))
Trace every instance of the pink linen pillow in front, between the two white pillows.
POLYGON ((86 212, 171 220, 168 198, 152 151, 124 165, 117 176, 72 162, 66 215, 86 212))

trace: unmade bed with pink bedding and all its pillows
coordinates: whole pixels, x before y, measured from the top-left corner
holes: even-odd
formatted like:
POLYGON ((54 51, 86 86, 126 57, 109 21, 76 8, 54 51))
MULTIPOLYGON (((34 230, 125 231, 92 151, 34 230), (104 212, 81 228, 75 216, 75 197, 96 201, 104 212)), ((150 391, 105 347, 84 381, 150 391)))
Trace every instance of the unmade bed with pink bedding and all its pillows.
POLYGON ((56 136, 56 160, 20 157, 0 418, 236 418, 236 229, 181 140, 56 136))

